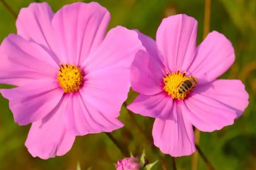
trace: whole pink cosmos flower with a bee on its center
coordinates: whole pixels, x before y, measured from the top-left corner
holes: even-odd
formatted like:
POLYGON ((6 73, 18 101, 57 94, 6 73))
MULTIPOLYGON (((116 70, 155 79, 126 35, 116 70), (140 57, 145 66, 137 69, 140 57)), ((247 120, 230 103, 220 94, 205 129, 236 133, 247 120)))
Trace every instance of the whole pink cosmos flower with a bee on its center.
POLYGON ((156 42, 140 35, 146 51, 131 66, 140 93, 128 109, 156 118, 154 144, 172 156, 195 151, 192 125, 204 132, 232 125, 248 105, 240 80, 216 79, 232 65, 234 49, 213 31, 196 47, 197 21, 184 14, 163 19, 156 42))

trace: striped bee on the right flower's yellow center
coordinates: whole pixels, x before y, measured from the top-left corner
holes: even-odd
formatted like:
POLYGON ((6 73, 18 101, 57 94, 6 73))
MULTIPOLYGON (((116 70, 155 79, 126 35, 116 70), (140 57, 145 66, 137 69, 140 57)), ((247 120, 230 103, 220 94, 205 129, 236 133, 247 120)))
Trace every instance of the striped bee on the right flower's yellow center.
POLYGON ((177 86, 179 94, 188 94, 197 85, 197 79, 195 77, 189 76, 183 82, 177 86))

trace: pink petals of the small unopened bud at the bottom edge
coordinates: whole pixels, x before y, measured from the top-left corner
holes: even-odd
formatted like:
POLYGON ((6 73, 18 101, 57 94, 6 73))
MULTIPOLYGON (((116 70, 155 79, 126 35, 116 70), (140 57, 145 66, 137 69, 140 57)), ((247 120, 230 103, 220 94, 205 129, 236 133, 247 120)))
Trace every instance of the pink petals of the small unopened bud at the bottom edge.
POLYGON ((116 170, 140 170, 140 164, 134 158, 117 161, 116 170))

